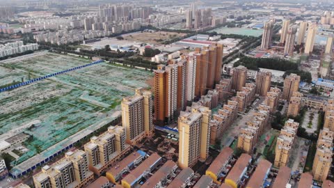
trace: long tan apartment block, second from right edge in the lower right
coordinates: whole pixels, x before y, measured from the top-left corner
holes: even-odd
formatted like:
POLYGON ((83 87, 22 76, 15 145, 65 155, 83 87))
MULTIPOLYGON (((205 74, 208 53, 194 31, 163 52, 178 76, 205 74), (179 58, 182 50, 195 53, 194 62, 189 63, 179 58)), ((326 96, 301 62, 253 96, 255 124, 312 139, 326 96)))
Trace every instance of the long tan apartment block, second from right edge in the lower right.
POLYGON ((280 136, 277 138, 275 148, 275 162, 274 166, 280 168, 281 166, 287 166, 289 161, 289 154, 294 143, 294 138, 297 133, 299 123, 294 122, 293 119, 289 119, 285 122, 282 130, 280 130, 280 136))

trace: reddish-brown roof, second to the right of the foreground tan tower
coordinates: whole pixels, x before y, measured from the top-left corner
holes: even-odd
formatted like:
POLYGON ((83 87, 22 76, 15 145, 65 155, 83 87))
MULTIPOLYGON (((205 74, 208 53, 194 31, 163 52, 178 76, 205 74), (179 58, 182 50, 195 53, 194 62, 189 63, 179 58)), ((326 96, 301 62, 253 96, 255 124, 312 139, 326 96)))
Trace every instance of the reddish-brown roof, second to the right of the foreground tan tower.
POLYGON ((252 157, 250 157, 250 155, 246 153, 241 154, 237 162, 234 164, 230 173, 228 173, 226 179, 230 179, 233 180, 234 182, 237 182, 241 177, 241 174, 244 173, 244 170, 250 163, 251 159, 252 157))

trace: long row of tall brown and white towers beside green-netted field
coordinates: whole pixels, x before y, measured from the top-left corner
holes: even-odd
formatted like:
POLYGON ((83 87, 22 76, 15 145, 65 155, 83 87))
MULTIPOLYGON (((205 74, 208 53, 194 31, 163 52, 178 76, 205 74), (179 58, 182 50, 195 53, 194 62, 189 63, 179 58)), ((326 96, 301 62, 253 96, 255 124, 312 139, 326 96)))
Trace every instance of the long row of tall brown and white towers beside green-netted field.
MULTIPOLYGON (((175 120, 186 104, 206 95, 208 89, 221 81, 222 58, 223 45, 218 43, 197 48, 179 62, 158 65, 158 70, 154 70, 154 111, 158 125, 175 120)), ((215 96, 217 92, 213 92, 215 96)))

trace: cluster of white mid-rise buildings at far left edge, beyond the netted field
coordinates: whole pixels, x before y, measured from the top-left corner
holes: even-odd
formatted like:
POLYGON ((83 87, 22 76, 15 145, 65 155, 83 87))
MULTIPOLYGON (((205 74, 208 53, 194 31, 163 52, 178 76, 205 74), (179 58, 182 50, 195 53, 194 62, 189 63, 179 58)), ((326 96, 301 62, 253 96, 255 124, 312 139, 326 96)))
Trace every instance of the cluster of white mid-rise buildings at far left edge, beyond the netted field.
POLYGON ((38 44, 24 45, 23 41, 8 42, 5 45, 0 45, 0 58, 5 56, 11 56, 26 51, 38 50, 38 44))

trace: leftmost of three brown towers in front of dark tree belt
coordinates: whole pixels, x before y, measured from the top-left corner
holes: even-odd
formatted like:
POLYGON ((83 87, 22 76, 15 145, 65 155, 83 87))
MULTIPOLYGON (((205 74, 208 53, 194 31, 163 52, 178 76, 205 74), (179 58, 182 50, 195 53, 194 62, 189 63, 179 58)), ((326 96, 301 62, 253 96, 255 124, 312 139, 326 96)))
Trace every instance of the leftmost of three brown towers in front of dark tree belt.
POLYGON ((239 65, 233 69, 232 75, 232 89, 235 91, 241 91, 242 87, 245 86, 247 79, 247 68, 239 65))

